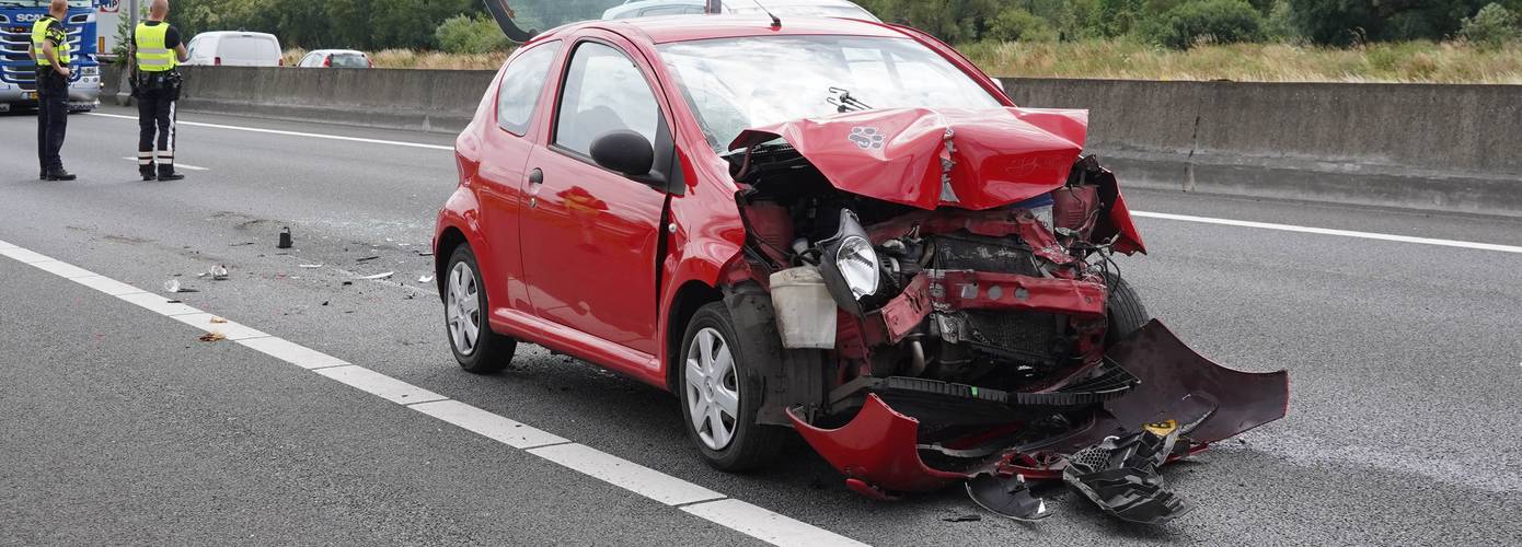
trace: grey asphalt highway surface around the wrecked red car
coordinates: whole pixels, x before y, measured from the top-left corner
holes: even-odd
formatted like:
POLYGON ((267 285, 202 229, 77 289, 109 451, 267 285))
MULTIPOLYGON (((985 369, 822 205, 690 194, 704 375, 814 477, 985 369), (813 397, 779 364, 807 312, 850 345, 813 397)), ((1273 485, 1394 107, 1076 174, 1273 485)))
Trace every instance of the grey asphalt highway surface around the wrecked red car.
MULTIPOLYGON (((105 109, 105 114, 129 114, 105 109)), ((449 135, 184 114, 183 122, 447 147, 449 135)), ((75 115, 76 182, 41 182, 35 120, 0 117, 0 240, 667 476, 881 545, 1514 544, 1522 538, 1522 254, 1137 219, 1122 267, 1212 359, 1288 368, 1286 419, 1167 480, 1199 509, 1113 521, 1062 488, 1026 526, 948 489, 849 492, 802 442, 731 476, 674 397, 521 346, 496 377, 449 356, 431 284, 437 147, 180 129, 180 182, 135 176, 135 122, 75 115), (289 226, 295 249, 275 249, 289 226), (376 257, 376 258, 370 258, 376 257), (370 258, 370 260, 364 260, 370 258), (225 264, 227 281, 196 277, 225 264), (301 267, 323 264, 323 267, 301 267), (396 272, 390 281, 362 275, 396 272), (947 521, 982 514, 979 521, 947 521)), ((1123 173, 1122 173, 1123 176, 1123 173)), ((1131 191, 1152 213, 1522 246, 1522 223, 1131 191)), ((749 544, 734 529, 0 257, 0 544, 749 544)))

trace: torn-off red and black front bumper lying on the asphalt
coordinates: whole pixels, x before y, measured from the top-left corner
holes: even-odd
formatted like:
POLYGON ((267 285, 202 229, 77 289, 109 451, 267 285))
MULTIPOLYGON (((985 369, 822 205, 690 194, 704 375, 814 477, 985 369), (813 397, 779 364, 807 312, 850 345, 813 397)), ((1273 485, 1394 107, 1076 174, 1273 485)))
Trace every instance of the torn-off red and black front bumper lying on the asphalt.
POLYGON ((1157 321, 1106 351, 1105 363, 1108 369, 1041 394, 991 394, 931 380, 881 378, 868 387, 866 403, 845 425, 817 427, 796 410, 788 410, 788 418, 846 476, 848 486, 864 495, 890 498, 980 477, 1000 482, 970 488, 980 504, 1024 507, 1018 511, 1035 512, 1011 517, 1040 518, 1044 504, 1023 501, 1029 497, 1024 480, 1056 480, 1065 473, 1075 489, 1117 517, 1160 523, 1183 515, 1189 506, 1161 488, 1158 466, 1283 418, 1289 403, 1288 372, 1224 368, 1157 321), (935 401, 916 404, 906 392, 935 401), (925 444, 919 438, 921 416, 915 409, 976 413, 989 406, 1006 407, 1014 416, 1058 412, 1070 416, 1073 425, 1024 435, 1005 430, 960 444, 925 444), (997 450, 983 450, 991 444, 997 450), (951 445, 954 450, 947 448, 951 445), (1075 460, 1079 465, 1071 465, 1075 460), (997 492, 1009 498, 989 498, 997 492))

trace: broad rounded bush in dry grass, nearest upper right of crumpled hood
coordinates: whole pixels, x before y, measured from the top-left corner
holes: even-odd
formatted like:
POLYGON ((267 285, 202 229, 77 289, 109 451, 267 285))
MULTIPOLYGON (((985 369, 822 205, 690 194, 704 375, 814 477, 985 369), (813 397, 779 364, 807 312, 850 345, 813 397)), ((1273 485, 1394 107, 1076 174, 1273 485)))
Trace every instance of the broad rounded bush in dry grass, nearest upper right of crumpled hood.
POLYGON ((1189 49, 1201 41, 1215 44, 1263 40, 1263 14, 1247 0, 1193 0, 1145 23, 1152 41, 1189 49))

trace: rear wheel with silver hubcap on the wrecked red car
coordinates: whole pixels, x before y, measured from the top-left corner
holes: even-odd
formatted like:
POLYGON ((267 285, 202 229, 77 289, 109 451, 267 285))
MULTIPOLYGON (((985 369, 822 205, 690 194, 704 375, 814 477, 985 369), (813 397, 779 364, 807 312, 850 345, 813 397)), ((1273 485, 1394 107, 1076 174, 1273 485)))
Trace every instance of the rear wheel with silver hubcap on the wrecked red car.
POLYGON ((449 349, 466 371, 493 374, 507 368, 517 349, 517 340, 492 331, 487 321, 492 307, 486 299, 486 284, 475 252, 461 243, 449 255, 444 280, 444 333, 449 349))

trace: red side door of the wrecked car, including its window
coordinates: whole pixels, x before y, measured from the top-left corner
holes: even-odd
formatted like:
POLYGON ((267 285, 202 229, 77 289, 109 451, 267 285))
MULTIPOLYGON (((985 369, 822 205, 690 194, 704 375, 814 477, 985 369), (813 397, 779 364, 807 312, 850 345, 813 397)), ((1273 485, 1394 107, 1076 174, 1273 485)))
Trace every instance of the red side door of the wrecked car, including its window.
POLYGON ((591 158, 592 141, 610 131, 632 129, 656 149, 670 140, 648 67, 626 44, 606 35, 571 52, 549 143, 528 161, 524 272, 540 318, 654 354, 667 194, 591 158))

